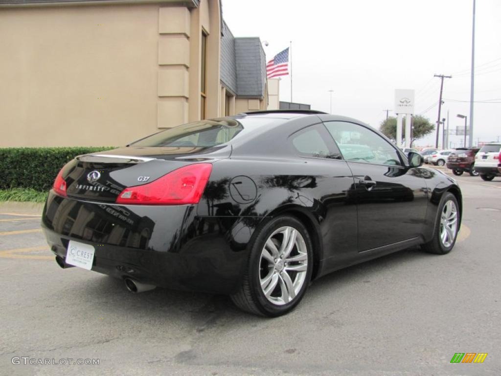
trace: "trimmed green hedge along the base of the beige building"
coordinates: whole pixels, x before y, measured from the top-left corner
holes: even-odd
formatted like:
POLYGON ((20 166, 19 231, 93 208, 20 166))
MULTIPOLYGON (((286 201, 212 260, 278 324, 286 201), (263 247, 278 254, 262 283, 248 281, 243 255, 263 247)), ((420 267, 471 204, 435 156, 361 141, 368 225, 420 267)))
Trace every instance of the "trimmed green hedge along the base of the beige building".
POLYGON ((80 154, 113 147, 9 147, 0 148, 0 189, 51 189, 59 170, 80 154))

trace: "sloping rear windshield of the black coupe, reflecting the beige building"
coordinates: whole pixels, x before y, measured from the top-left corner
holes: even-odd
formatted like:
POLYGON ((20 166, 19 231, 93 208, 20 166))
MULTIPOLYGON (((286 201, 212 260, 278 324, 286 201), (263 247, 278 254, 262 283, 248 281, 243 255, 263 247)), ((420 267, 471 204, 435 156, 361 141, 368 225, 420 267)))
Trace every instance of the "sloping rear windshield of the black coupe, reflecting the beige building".
POLYGON ((132 146, 212 147, 276 122, 277 119, 246 117, 211 119, 179 125, 131 143, 132 146))

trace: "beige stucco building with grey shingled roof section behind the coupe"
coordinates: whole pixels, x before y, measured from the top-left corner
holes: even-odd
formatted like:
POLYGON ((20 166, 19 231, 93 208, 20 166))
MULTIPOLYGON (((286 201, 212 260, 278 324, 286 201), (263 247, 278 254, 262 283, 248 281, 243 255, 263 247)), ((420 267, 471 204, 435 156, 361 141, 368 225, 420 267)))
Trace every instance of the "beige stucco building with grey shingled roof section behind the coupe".
POLYGON ((0 147, 123 145, 267 108, 259 38, 219 0, 0 0, 0 147))

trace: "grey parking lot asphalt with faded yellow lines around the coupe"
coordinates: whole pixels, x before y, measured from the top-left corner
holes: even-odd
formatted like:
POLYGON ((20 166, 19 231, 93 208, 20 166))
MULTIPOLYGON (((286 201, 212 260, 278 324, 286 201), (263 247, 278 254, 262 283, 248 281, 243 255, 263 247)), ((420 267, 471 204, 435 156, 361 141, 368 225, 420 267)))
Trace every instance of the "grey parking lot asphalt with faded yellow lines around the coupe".
POLYGON ((0 374, 499 375, 501 178, 455 178, 464 213, 450 254, 413 248, 335 272, 275 319, 225 296, 133 294, 63 270, 40 231, 41 206, 0 205, 0 374), (488 355, 450 363, 456 352, 488 355))

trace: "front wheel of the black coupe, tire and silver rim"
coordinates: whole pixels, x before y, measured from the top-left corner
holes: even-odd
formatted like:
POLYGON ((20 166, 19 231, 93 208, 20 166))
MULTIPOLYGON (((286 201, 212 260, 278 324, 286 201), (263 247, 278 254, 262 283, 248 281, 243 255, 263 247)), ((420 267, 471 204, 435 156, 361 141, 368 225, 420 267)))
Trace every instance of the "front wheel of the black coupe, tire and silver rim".
POLYGON ((433 238, 421 247, 428 253, 444 255, 454 247, 460 223, 459 205, 451 193, 442 197, 435 223, 433 238))

